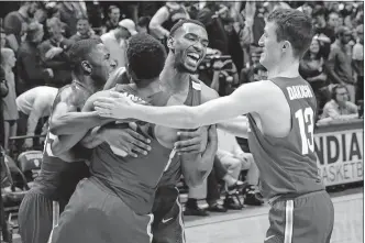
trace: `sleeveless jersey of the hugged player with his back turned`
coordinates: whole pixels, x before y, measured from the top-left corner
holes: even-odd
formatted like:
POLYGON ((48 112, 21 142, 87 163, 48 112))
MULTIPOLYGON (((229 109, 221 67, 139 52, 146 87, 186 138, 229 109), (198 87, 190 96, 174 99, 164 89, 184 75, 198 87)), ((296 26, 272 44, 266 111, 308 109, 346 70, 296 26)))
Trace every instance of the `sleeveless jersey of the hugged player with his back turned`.
MULTIPOLYGON (((118 85, 115 91, 128 92, 130 97, 135 95, 129 85, 118 85)), ((167 93, 158 92, 148 102, 162 107, 168 99, 167 93)), ((151 137, 152 150, 148 154, 139 157, 120 156, 113 153, 108 143, 102 143, 93 150, 90 173, 93 181, 120 197, 134 212, 146 214, 152 210, 155 190, 172 150, 157 142, 153 124, 140 121, 136 123, 139 132, 151 137)))

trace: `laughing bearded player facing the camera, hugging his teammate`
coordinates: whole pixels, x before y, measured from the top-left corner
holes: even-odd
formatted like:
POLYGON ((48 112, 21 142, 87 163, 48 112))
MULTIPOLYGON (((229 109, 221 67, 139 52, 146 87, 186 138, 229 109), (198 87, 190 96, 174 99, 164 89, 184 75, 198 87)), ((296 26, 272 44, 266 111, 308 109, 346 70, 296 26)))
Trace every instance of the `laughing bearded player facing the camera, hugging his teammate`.
MULTIPOLYGON (((218 97, 218 93, 193 77, 200 62, 204 58, 208 36, 202 23, 195 20, 180 20, 176 23, 168 40, 169 53, 167 55, 164 69, 159 76, 161 85, 165 92, 172 95, 167 106, 186 104, 198 106, 218 97)), ((122 70, 121 70, 122 71, 122 70)), ((111 79, 110 79, 111 80, 111 79)), ((112 79, 106 86, 113 87, 112 81, 125 84, 125 79, 112 79)), ((241 121, 233 124, 226 122, 222 128, 239 126, 237 131, 244 131, 241 121)), ((166 128, 163 128, 166 131, 166 128)), ((199 153, 206 150, 207 128, 190 131, 179 131, 177 135, 175 129, 169 129, 168 133, 175 143, 176 152, 180 156, 174 157, 169 168, 164 173, 156 191, 153 207, 155 220, 152 224, 154 243, 176 243, 185 242, 182 207, 179 202, 179 191, 177 184, 181 174, 187 185, 195 187, 201 185, 209 175, 213 163, 213 156, 208 159, 204 166, 209 169, 202 173, 199 153), (192 143, 191 141, 201 141, 192 143), (198 146, 197 148, 197 144, 198 146)), ((235 189, 237 185, 230 187, 235 189)))

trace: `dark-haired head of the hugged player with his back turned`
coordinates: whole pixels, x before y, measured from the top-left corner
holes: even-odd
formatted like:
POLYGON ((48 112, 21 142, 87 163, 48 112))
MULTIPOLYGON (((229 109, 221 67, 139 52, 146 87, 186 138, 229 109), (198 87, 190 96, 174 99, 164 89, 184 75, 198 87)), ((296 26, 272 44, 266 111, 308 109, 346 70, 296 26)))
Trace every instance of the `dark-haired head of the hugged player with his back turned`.
POLYGON ((140 33, 130 38, 126 70, 139 87, 145 87, 159 77, 165 59, 165 47, 150 34, 140 33))

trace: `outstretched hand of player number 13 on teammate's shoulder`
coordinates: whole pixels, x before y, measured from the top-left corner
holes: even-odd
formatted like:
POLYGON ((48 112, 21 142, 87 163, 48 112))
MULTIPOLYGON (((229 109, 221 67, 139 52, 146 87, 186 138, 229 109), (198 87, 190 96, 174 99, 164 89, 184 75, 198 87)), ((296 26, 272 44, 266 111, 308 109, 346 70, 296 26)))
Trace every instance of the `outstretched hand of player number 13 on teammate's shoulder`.
POLYGON ((113 97, 100 97, 95 102, 95 110, 100 117, 113 119, 132 118, 132 106, 134 104, 125 93, 110 91, 113 97))

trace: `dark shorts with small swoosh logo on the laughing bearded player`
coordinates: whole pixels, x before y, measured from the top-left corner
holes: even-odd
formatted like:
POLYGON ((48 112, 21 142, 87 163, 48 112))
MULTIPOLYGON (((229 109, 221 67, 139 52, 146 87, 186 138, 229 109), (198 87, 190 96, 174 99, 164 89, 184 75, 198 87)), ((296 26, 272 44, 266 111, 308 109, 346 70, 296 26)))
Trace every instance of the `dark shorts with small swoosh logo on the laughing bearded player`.
POLYGON ((182 206, 176 187, 158 187, 152 209, 153 243, 185 243, 182 206))

